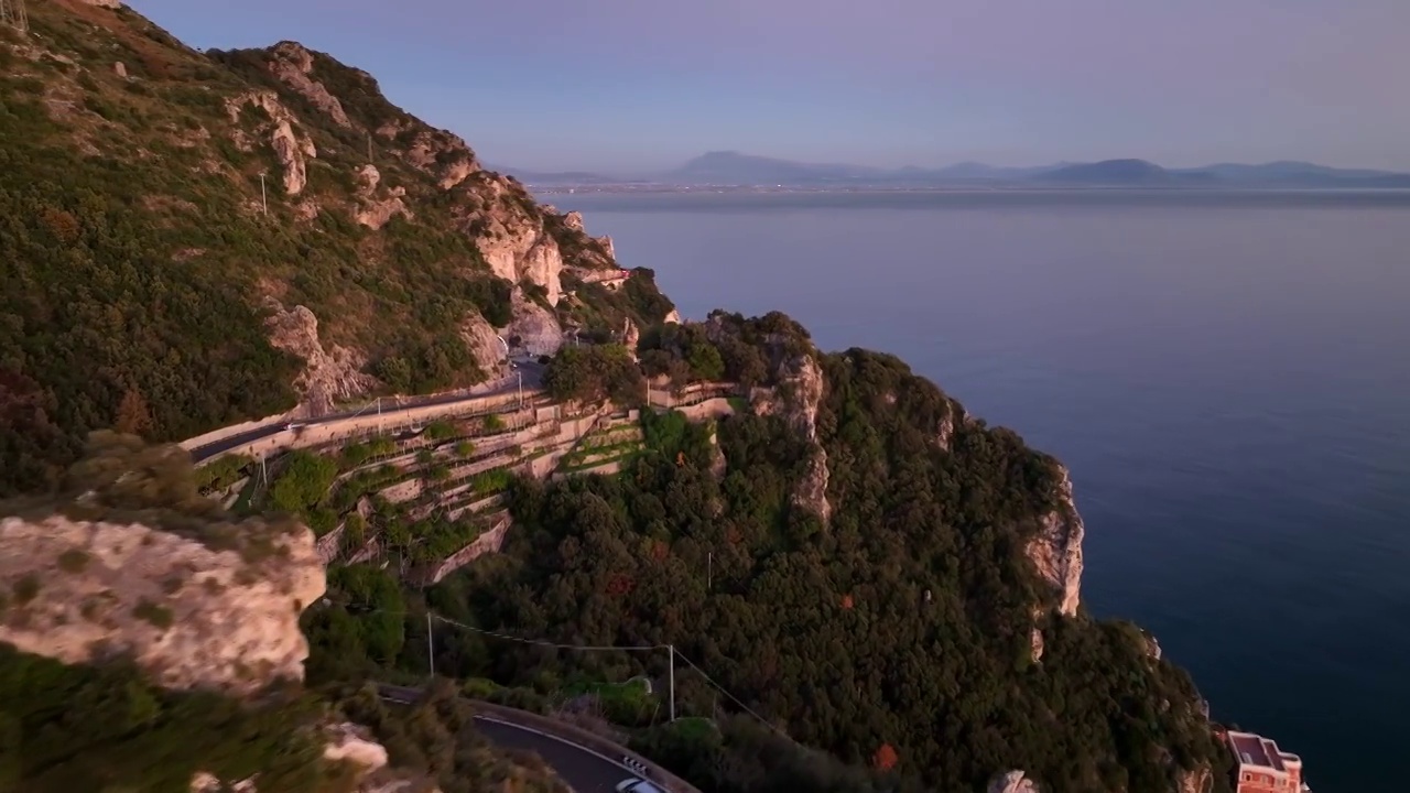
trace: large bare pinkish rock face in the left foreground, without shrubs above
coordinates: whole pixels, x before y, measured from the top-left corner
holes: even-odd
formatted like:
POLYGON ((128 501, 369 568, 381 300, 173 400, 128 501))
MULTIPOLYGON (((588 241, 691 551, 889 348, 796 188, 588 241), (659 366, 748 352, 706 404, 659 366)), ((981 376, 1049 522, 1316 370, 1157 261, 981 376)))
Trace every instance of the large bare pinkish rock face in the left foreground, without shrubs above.
POLYGON ((307 529, 269 538, 254 559, 144 525, 4 518, 0 586, 38 591, 10 598, 0 642, 63 663, 125 652, 169 689, 302 680, 299 612, 323 597, 323 564, 307 529))

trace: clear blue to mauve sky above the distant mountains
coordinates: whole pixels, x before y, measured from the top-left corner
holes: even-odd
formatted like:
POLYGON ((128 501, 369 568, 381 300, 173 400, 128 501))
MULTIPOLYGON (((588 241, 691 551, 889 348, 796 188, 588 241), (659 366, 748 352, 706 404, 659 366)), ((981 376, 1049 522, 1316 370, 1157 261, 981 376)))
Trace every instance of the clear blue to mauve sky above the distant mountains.
POLYGON ((532 171, 811 162, 1410 171, 1410 0, 130 0, 299 41, 532 171))

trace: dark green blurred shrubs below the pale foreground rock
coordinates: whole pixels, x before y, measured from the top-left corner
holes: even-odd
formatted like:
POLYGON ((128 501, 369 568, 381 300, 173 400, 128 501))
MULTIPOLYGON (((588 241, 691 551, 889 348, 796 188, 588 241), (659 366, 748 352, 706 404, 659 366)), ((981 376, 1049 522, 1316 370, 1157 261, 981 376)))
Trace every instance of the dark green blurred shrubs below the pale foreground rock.
POLYGON ((186 793, 196 772, 261 790, 329 793, 347 770, 303 732, 320 708, 296 693, 247 706, 164 691, 125 662, 63 666, 0 643, 0 790, 186 793))

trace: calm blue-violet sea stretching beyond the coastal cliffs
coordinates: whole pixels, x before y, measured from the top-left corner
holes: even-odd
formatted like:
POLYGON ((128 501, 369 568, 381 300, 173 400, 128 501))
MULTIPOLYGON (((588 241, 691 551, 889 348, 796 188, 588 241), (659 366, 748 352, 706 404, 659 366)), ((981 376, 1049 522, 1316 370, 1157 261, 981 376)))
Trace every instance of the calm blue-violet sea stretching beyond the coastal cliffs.
POLYGON ((1410 192, 539 198, 688 319, 780 309, 1062 459, 1093 614, 1316 793, 1404 776, 1410 192))

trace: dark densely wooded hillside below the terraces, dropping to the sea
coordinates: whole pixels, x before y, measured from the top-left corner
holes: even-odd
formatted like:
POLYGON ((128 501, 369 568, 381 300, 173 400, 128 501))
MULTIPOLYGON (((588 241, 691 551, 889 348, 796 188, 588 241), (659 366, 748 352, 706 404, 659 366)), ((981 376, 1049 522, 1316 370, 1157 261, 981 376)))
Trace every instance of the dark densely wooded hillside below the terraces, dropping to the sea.
MULTIPOLYGON (((580 396, 630 384, 613 356, 596 358, 599 380, 584 356, 560 357, 591 384, 580 396)), ((1072 509, 1053 459, 894 357, 816 353, 783 315, 668 326, 642 361, 749 377, 792 408, 760 394, 713 422, 666 412, 615 477, 516 480, 501 553, 427 590, 395 564, 336 574, 338 605, 306 622, 312 673, 424 673, 429 610, 437 673, 519 707, 598 691, 598 713, 704 790, 767 790, 777 772, 791 790, 970 792, 1011 768, 1053 792, 1227 789, 1189 676, 1134 625, 1060 614, 1034 550, 1072 509), (826 384, 814 442, 797 426, 799 356, 826 384), (799 498, 814 443, 826 509, 799 498), (661 725, 667 652, 572 649, 667 645, 680 713, 715 728, 661 725), (602 697, 636 676, 651 696, 602 697), (780 741, 771 730, 788 738, 743 773, 739 752, 780 741), (801 766, 821 769, 812 787, 788 776, 801 766)))

